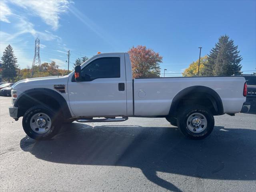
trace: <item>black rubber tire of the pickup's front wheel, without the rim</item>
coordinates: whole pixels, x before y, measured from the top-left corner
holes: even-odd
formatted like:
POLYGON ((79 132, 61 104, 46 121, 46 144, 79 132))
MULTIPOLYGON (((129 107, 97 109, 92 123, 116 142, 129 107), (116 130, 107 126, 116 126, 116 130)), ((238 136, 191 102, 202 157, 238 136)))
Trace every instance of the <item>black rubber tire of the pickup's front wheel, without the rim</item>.
POLYGON ((57 112, 54 112, 54 110, 46 106, 38 105, 26 111, 22 119, 22 126, 23 130, 30 138, 36 140, 48 140, 59 132, 62 125, 61 122, 62 120, 60 120, 60 115, 57 112), (37 113, 44 113, 50 117, 51 126, 46 133, 37 133, 30 127, 30 119, 37 113))

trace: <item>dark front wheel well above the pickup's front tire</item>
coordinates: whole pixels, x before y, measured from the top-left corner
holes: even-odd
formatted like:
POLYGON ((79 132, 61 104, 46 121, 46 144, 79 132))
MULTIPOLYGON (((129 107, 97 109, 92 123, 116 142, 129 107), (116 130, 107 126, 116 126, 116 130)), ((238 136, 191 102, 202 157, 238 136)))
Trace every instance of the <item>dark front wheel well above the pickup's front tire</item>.
POLYGON ((29 108, 39 104, 48 106, 56 112, 62 113, 60 104, 55 98, 46 94, 34 94, 33 96, 26 95, 19 99, 18 103, 16 104, 16 106, 19 108, 18 117, 23 116, 29 108))

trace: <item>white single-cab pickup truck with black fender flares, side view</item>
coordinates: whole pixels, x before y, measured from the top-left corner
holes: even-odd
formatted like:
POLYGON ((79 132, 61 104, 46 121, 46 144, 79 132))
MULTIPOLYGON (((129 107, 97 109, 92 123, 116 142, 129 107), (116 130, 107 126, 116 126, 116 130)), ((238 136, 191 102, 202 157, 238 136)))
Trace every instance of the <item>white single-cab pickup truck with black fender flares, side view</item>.
POLYGON ((244 77, 135 78, 128 53, 93 56, 66 76, 12 86, 9 113, 31 138, 52 138, 62 123, 166 118, 188 138, 202 139, 216 115, 248 112, 244 77), (100 118, 99 118, 100 117, 100 118))

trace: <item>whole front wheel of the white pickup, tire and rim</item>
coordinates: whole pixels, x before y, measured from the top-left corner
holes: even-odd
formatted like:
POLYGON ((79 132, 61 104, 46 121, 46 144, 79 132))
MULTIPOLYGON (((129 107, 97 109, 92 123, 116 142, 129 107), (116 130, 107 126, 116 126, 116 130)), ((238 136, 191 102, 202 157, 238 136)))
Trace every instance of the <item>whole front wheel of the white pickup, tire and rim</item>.
POLYGON ((34 106, 24 114, 22 126, 32 139, 47 140, 58 133, 61 123, 54 110, 45 106, 34 106))

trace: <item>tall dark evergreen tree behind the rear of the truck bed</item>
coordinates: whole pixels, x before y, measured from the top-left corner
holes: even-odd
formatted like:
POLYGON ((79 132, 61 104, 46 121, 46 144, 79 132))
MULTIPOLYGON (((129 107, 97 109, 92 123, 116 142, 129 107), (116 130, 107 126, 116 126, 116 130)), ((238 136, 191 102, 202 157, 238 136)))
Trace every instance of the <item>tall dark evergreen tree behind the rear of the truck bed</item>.
POLYGON ((205 64, 204 76, 231 76, 241 74, 242 66, 240 62, 242 56, 239 55, 238 46, 234 41, 229 40, 229 36, 220 36, 218 43, 212 48, 208 55, 208 62, 205 64))

